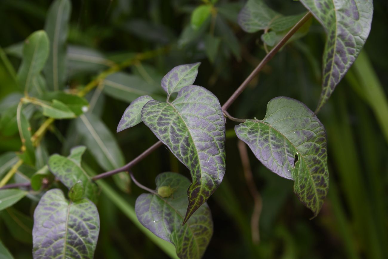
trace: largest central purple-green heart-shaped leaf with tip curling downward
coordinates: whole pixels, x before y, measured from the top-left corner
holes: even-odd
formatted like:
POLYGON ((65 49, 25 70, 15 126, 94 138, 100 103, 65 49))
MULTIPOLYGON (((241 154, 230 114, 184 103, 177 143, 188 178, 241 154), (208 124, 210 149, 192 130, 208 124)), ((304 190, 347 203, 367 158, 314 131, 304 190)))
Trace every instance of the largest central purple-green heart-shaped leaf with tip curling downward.
POLYGON ((146 103, 142 120, 191 172, 185 223, 225 174, 225 121, 220 103, 209 90, 189 85, 172 103, 146 103))

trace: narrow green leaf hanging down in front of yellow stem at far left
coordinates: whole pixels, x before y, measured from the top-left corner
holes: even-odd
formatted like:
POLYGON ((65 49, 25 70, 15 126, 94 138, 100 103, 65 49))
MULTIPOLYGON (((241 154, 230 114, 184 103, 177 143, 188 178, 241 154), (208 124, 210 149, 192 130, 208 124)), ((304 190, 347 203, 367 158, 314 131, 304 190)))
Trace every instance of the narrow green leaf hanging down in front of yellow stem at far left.
POLYGON ((17 110, 17 128, 19 129, 20 139, 22 141, 23 153, 19 154, 19 157, 24 161, 24 163, 28 165, 35 165, 35 149, 31 141, 31 126, 21 111, 21 109, 17 110))

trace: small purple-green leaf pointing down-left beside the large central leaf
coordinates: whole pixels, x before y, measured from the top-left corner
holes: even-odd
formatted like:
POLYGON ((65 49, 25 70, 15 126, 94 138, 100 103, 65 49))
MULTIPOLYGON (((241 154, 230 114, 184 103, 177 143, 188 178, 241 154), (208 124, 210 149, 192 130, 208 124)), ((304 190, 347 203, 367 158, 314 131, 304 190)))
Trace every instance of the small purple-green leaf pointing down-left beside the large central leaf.
POLYGON ((142 108, 144 104, 150 100, 152 100, 151 96, 140 96, 135 99, 124 111, 119 125, 117 126, 117 132, 128 129, 142 122, 142 108))

